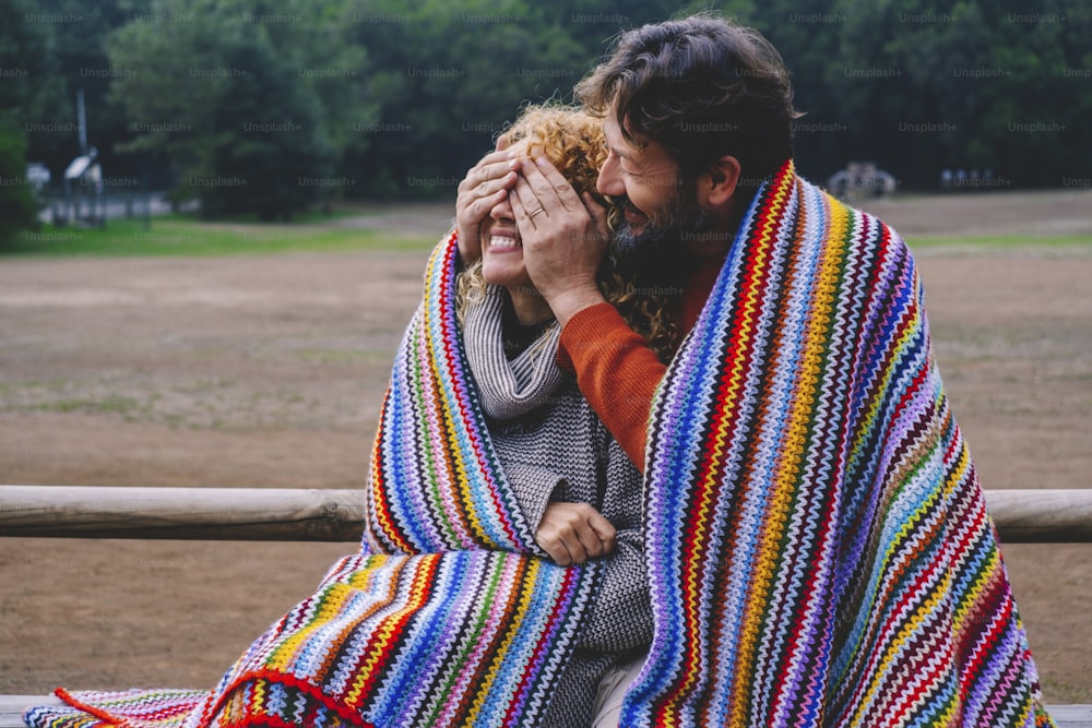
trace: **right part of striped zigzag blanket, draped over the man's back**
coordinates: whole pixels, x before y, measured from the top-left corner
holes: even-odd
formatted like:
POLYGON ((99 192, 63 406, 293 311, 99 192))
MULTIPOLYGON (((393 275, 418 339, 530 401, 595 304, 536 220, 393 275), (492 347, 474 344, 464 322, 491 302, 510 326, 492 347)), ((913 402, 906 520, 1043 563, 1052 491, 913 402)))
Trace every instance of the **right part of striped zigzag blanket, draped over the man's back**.
POLYGON ((653 405, 624 726, 1045 726, 903 241, 756 195, 653 405))

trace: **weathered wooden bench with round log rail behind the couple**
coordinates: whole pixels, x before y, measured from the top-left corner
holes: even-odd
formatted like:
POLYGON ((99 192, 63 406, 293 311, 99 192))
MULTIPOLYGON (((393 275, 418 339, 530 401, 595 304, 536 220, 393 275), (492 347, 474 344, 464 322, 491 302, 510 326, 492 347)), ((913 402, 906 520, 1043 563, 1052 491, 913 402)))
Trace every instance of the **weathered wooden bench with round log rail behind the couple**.
MULTIPOLYGON (((1004 542, 1092 542, 1092 490, 995 490, 1004 542)), ((357 541, 356 490, 0 486, 0 536, 357 541)), ((0 695, 0 728, 49 695, 0 695)), ((1092 728, 1092 705, 1051 705, 1059 728, 1092 728)))

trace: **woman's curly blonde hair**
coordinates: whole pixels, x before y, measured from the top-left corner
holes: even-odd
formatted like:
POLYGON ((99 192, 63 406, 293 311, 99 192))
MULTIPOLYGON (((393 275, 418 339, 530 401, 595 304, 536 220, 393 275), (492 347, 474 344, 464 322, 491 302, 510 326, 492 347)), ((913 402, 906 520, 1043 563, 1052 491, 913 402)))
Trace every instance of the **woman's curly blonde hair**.
MULTIPOLYGON (((606 160, 607 145, 603 122, 574 106, 526 106, 503 132, 509 145, 526 142, 529 156, 544 156, 572 184, 578 195, 590 192, 607 208, 607 225, 613 230, 621 218, 621 208, 595 189, 600 168, 606 160)), ((626 323, 643 336, 665 363, 678 347, 678 327, 670 320, 666 296, 641 295, 631 271, 608 254, 600 265, 600 290, 626 323)), ((458 311, 485 296, 485 277, 478 261, 459 277, 458 311)))

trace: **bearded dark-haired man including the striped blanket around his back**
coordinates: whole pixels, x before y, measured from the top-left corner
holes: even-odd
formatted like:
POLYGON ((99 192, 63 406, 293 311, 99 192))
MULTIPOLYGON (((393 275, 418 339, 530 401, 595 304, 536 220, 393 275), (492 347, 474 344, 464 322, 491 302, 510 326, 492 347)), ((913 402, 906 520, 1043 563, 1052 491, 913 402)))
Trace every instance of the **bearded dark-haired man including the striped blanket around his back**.
POLYGON ((595 289, 602 212, 555 169, 495 153, 466 193, 511 200, 559 357, 644 470, 656 628, 620 724, 1051 725, 913 260, 796 176, 776 50, 648 25, 577 95, 617 253, 687 261, 668 365, 595 289))

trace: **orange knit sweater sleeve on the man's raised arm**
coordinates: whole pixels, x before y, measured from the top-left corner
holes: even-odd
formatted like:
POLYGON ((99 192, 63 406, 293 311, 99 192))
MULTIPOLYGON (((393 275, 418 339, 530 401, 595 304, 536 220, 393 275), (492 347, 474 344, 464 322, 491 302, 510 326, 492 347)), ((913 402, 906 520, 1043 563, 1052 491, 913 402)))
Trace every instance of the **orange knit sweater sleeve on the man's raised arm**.
POLYGON ((648 342, 609 303, 580 311, 561 330, 558 362, 637 468, 644 473, 644 442, 652 395, 667 371, 648 342))

